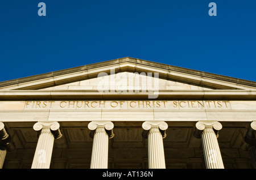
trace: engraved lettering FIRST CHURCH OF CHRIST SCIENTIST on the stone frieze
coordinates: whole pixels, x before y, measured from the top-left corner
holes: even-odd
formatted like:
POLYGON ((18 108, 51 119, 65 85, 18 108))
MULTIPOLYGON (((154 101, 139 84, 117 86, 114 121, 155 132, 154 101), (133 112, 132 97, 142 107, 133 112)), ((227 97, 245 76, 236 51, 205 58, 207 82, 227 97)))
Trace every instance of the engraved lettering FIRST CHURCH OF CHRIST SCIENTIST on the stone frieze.
POLYGON ((24 109, 231 109, 229 101, 26 101, 24 109))

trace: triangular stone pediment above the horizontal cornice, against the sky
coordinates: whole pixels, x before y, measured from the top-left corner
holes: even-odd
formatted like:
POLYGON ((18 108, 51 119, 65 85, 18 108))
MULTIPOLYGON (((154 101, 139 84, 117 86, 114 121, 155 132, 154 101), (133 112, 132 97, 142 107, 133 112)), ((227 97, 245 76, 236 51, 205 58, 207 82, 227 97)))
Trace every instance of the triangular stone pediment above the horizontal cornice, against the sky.
MULTIPOLYGON (((100 73, 113 76, 138 73, 141 78, 147 76, 154 82, 155 74, 159 78, 159 90, 255 90, 256 82, 230 78, 228 76, 191 70, 188 68, 164 65, 162 63, 145 61, 136 58, 120 58, 94 63, 80 67, 48 72, 27 78, 9 80, 0 83, 0 90, 96 90, 100 73), (114 74, 112 73, 114 70, 114 74), (144 73, 144 74, 143 74, 144 73), (152 74, 152 77, 148 76, 152 74)), ((120 79, 118 79, 120 82, 120 79)), ((117 80, 115 80, 117 83, 117 80)), ((143 85, 143 84, 141 84, 143 85)), ((109 89, 111 89, 110 87, 109 89)))

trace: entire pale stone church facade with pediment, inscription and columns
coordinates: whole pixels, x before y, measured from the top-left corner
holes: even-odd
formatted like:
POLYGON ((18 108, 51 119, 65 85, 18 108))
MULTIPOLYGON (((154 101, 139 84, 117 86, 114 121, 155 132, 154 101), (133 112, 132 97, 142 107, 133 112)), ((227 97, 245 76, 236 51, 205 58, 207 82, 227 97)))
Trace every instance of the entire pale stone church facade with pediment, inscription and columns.
POLYGON ((0 167, 256 168, 256 82, 120 58, 0 83, 0 167))

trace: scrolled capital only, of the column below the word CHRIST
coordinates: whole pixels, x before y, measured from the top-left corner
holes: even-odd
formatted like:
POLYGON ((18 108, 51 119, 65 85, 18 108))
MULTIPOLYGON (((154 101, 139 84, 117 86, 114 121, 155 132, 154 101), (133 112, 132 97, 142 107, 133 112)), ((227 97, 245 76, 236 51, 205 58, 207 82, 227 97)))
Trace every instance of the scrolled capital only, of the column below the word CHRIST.
POLYGON ((143 138, 147 138, 148 132, 150 132, 150 130, 152 130, 153 128, 157 131, 159 130, 162 134, 162 137, 166 138, 166 130, 168 128, 168 124, 164 121, 145 121, 142 124, 142 128, 143 138))

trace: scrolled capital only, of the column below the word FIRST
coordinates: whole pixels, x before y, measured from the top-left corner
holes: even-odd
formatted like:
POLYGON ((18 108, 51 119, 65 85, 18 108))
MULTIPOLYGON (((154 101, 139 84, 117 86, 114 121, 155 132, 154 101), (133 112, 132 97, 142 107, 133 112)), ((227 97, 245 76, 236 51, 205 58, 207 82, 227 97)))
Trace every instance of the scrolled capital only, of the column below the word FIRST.
POLYGON ((60 132, 60 124, 58 122, 36 122, 33 128, 35 131, 39 132, 39 135, 43 128, 49 128, 55 139, 62 137, 60 132))

